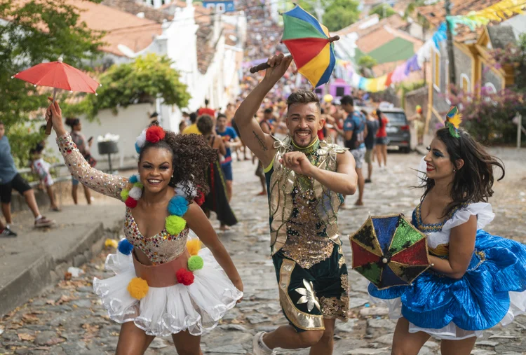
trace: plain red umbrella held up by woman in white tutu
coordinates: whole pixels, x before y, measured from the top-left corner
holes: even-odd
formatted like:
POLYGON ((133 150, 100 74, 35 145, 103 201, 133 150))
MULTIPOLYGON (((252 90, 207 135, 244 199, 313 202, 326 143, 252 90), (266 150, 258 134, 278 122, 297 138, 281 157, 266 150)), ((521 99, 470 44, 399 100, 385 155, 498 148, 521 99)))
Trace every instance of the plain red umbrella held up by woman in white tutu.
MULTIPOLYGON (((53 90, 53 102, 55 102, 55 95, 57 89, 91 92, 95 95, 95 90, 99 87, 99 83, 84 74, 79 69, 72 67, 62 62, 62 58, 58 58, 58 62, 48 62, 36 64, 25 71, 12 76, 33 85, 50 86, 55 88, 53 90)), ((52 123, 48 121, 46 126, 46 134, 51 133, 52 123)))

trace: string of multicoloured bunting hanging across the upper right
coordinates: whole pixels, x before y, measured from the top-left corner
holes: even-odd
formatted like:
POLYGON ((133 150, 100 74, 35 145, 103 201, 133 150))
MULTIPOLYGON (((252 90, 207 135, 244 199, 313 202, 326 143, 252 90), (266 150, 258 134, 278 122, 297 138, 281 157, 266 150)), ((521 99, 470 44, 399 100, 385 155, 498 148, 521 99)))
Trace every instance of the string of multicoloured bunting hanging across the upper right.
MULTIPOLYGON (((513 15, 524 13, 526 0, 502 0, 480 11, 471 11, 467 15, 447 16, 446 21, 450 23, 452 31, 458 25, 469 27, 475 31, 480 26, 485 26, 490 22, 501 22, 513 15)), ((379 78, 364 78, 356 73, 353 64, 344 60, 337 59, 337 73, 342 75, 353 88, 366 90, 367 92, 379 92, 389 88, 391 84, 401 83, 414 71, 422 70, 424 62, 431 60, 431 48, 440 48, 440 42, 447 39, 447 26, 442 22, 431 39, 417 50, 406 62, 398 65, 391 73, 380 76, 379 78)))

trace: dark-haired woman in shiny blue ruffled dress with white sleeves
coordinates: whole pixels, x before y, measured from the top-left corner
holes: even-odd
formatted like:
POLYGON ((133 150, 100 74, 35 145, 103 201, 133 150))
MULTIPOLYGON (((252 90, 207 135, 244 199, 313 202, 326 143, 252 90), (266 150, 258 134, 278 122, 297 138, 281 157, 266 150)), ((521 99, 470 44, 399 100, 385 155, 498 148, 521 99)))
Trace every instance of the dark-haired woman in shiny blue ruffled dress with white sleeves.
POLYGON ((450 122, 428 150, 412 223, 428 236, 431 268, 411 286, 368 291, 398 319, 392 354, 417 355, 432 336, 442 354, 468 355, 482 330, 525 312, 526 246, 483 230, 494 218, 494 167, 504 177, 500 160, 450 122))

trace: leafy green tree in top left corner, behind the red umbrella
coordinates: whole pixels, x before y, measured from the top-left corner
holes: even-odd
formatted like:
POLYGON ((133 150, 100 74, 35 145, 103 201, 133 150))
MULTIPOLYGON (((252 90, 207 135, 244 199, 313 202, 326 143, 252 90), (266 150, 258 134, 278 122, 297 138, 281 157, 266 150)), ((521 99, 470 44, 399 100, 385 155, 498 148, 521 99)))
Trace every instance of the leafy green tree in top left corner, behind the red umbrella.
POLYGON ((79 8, 65 0, 0 0, 0 18, 8 21, 0 25, 0 120, 6 124, 19 162, 27 161, 28 152, 22 149, 40 137, 38 130, 29 134, 20 126, 27 123, 29 113, 48 106, 48 95, 11 76, 58 57, 88 69, 103 44, 103 34, 88 29, 79 17, 79 8))

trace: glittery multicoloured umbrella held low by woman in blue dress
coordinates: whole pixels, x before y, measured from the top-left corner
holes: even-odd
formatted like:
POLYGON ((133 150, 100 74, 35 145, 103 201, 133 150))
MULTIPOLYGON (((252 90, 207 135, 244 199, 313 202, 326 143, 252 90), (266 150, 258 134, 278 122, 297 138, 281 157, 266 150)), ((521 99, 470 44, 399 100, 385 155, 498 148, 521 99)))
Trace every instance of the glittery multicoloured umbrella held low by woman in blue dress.
POLYGON ((370 216, 349 240, 353 269, 379 290, 409 285, 431 266, 426 235, 403 214, 370 216))

